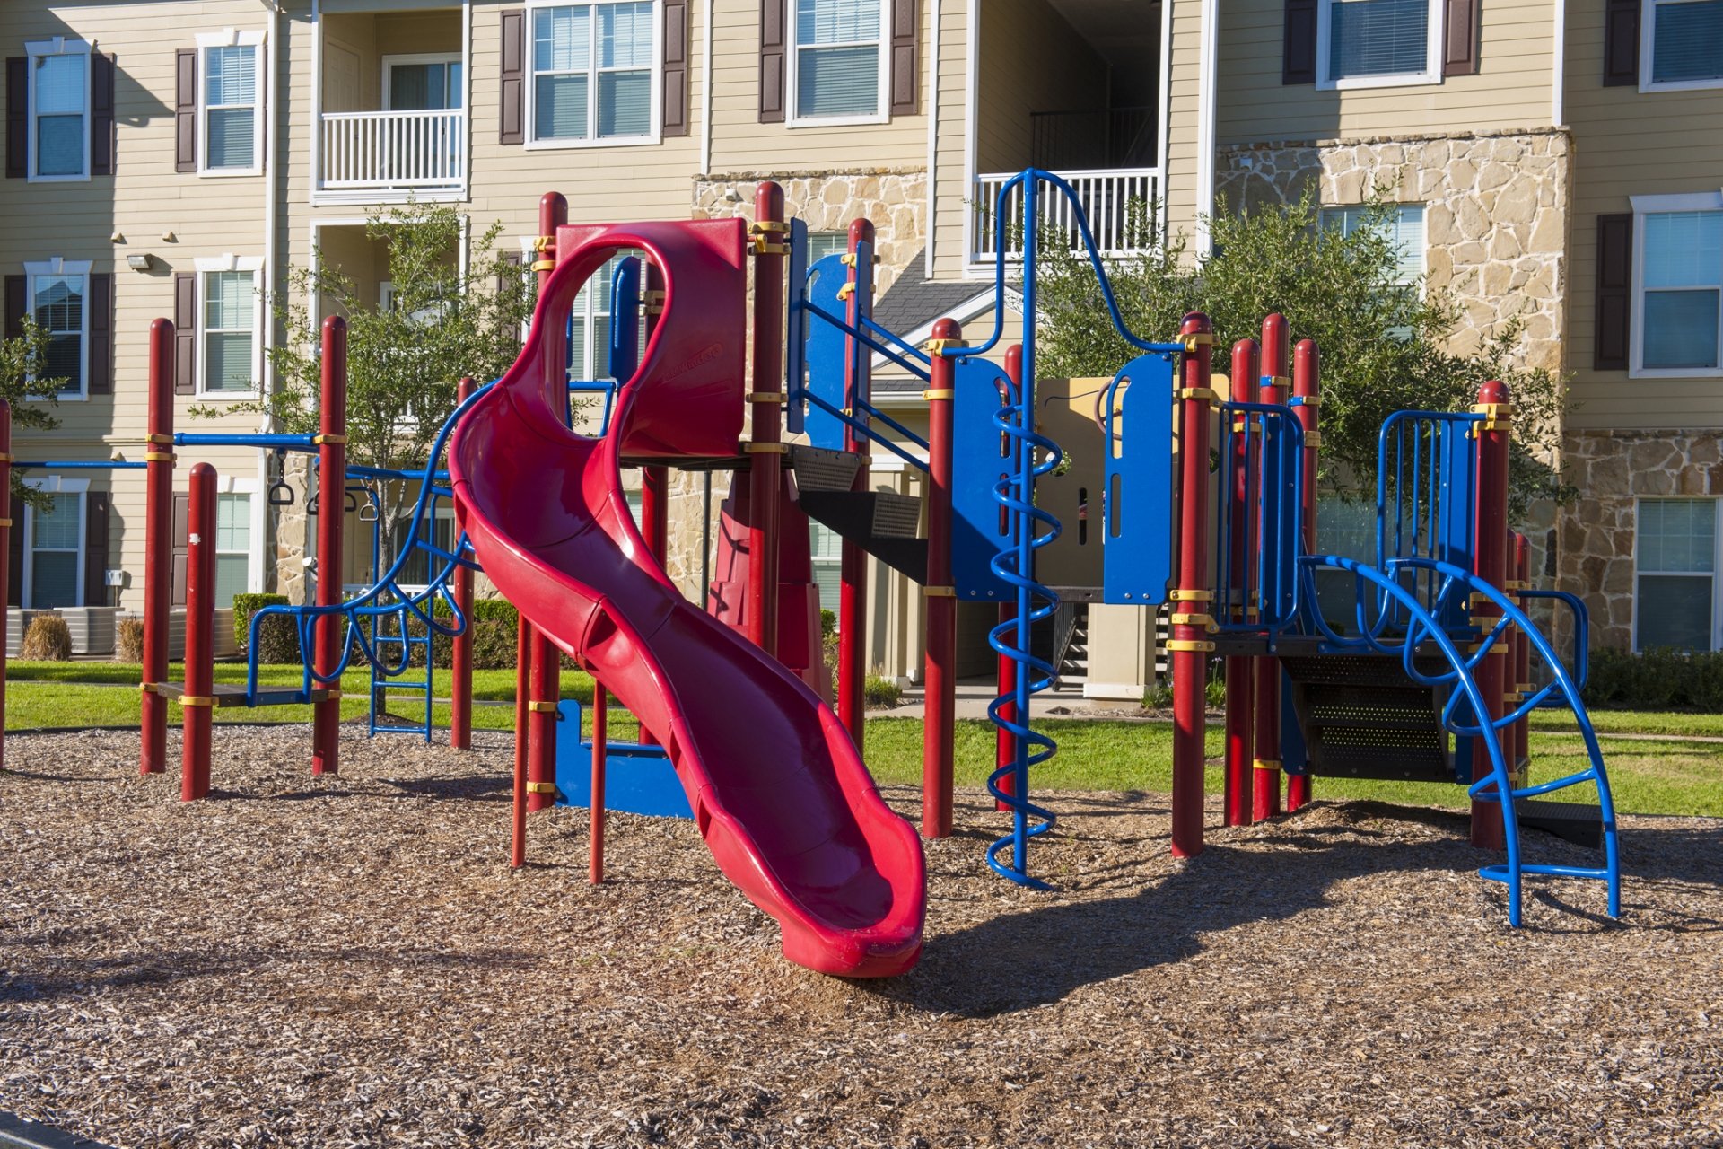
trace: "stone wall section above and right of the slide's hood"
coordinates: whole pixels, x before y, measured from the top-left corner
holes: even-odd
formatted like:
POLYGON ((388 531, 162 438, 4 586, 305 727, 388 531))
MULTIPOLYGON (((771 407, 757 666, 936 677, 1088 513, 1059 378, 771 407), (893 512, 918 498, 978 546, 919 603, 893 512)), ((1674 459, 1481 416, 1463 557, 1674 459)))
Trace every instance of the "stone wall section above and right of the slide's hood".
POLYGON ((696 177, 694 219, 741 215, 753 220, 755 189, 767 179, 784 186, 786 217, 805 219, 808 231, 846 231, 853 219, 872 220, 879 295, 922 250, 927 236, 927 171, 918 167, 696 177))

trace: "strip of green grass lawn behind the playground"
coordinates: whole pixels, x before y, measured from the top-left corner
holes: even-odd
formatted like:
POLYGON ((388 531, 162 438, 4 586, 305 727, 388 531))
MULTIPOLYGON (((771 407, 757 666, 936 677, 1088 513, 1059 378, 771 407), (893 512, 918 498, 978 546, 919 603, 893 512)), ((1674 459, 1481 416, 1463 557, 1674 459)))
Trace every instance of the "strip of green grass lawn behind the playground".
MULTIPOLYGON (((181 667, 169 670, 177 680, 181 667)), ((126 663, 28 663, 7 665, 9 730, 31 727, 79 725, 136 725, 140 694, 136 684, 140 668, 126 663), (126 689, 131 687, 131 689, 126 689)), ((264 667, 258 679, 269 684, 300 680, 298 667, 264 667)), ((217 682, 243 682, 245 667, 221 663, 217 682)), ((438 698, 448 698, 450 672, 434 675, 438 698)), ((341 680, 346 698, 341 699, 341 717, 365 713, 369 675, 355 670, 341 680)), ((515 693, 513 670, 474 672, 476 699, 512 701, 515 693)), ((565 670, 562 696, 582 703, 593 699, 593 680, 586 674, 565 670)), ((408 713, 407 699, 393 706, 408 713)), ((448 706, 432 706, 432 722, 448 725, 448 706)), ((269 706, 258 710, 224 708, 215 711, 217 722, 308 722, 310 706, 269 706)), ((169 722, 179 722, 179 706, 169 706, 169 722)), ((1604 763, 1614 787, 1616 804, 1625 813, 1673 813, 1723 817, 1723 744, 1687 741, 1637 741, 1609 737, 1611 734, 1663 734, 1689 737, 1723 736, 1723 715, 1649 713, 1630 710, 1597 710, 1592 713, 1604 749, 1604 763)), ((513 729, 513 710, 508 706, 474 706, 472 724, 484 730, 513 729)), ((586 711, 584 732, 591 732, 591 710, 586 711)), ((1060 742, 1058 755, 1036 767, 1030 786, 1036 789, 1073 791, 1161 791, 1172 786, 1172 724, 1165 722, 1085 722, 1054 720, 1037 724, 1060 742)), ((1568 734, 1575 730, 1570 715, 1554 711, 1532 718, 1532 780, 1546 782, 1585 768, 1583 741, 1568 734)), ((612 734, 619 741, 638 736, 634 720, 613 715, 612 734)), ((956 724, 956 780, 958 786, 980 786, 992 763, 994 729, 987 722, 963 720, 956 724)), ((1206 753, 1218 758, 1222 736, 1216 727, 1208 730, 1206 753)), ((920 782, 922 777, 922 722, 918 718, 879 717, 868 720, 867 761, 880 782, 920 782)), ((1211 792, 1222 789, 1218 765, 1206 770, 1211 792)), ((1318 779, 1320 798, 1366 798, 1416 806, 1466 804, 1458 786, 1434 782, 1359 782, 1344 779, 1318 779)), ((1595 801, 1592 787, 1563 791, 1556 799, 1595 801)))

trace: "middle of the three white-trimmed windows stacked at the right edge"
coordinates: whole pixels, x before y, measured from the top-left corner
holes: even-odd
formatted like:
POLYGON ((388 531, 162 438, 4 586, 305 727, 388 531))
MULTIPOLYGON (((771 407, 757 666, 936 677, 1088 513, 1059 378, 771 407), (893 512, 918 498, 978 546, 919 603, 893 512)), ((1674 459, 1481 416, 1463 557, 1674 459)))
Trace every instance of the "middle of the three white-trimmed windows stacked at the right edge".
POLYGON ((1639 367, 1713 374, 1723 343, 1723 207, 1639 217, 1639 367))

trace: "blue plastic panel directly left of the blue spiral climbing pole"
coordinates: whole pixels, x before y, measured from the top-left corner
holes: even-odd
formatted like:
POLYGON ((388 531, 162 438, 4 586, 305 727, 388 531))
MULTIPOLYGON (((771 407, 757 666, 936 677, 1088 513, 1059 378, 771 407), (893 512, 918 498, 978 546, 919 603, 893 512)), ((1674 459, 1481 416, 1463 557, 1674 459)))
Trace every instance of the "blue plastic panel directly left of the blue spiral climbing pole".
POLYGON ((992 486, 1013 470, 1006 458, 1006 436, 994 425, 1005 407, 1008 379, 998 363, 984 358, 958 360, 951 372, 951 584, 958 599, 970 603, 1015 599, 1015 593, 992 574, 994 556, 1010 543, 992 486))

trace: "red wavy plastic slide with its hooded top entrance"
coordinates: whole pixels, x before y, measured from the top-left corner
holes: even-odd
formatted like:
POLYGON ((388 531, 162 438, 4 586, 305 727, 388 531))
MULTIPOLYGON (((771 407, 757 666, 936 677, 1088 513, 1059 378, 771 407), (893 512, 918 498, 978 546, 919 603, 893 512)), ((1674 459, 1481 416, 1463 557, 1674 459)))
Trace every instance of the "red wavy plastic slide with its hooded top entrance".
POLYGON ((822 973, 891 977, 922 953, 915 829, 837 717, 775 658, 689 603, 634 527, 619 460, 736 455, 744 222, 560 227, 526 350, 462 417, 450 475, 503 598, 593 670, 669 749, 712 856, 822 973), (567 319, 620 248, 663 269, 665 310, 610 431, 569 431, 567 319))

